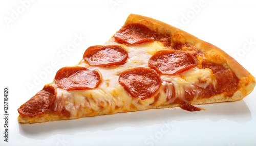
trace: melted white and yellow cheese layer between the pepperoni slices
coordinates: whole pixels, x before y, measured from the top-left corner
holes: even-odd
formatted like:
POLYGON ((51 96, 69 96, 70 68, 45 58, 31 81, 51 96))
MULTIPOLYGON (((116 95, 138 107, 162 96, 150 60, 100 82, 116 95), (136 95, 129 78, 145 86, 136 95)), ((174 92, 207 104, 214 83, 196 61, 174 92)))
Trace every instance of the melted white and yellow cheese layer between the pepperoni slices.
POLYGON ((114 38, 105 43, 105 45, 110 44, 122 45, 126 49, 129 57, 125 63, 112 67, 97 67, 90 66, 81 60, 77 66, 101 72, 101 83, 96 89, 88 90, 67 91, 57 88, 57 96, 52 108, 54 111, 61 112, 65 109, 70 113, 70 118, 78 118, 94 116, 98 113, 111 114, 120 111, 143 110, 150 108, 152 104, 160 106, 174 103, 178 98, 187 103, 185 91, 193 94, 194 100, 197 100, 201 92, 200 89, 204 89, 210 84, 215 86, 216 81, 210 69, 193 67, 182 74, 161 75, 162 86, 157 93, 158 98, 155 98, 156 95, 146 100, 132 98, 118 83, 119 74, 135 67, 148 68, 148 60, 152 55, 157 51, 165 50, 166 47, 158 41, 126 46, 117 43, 114 38))

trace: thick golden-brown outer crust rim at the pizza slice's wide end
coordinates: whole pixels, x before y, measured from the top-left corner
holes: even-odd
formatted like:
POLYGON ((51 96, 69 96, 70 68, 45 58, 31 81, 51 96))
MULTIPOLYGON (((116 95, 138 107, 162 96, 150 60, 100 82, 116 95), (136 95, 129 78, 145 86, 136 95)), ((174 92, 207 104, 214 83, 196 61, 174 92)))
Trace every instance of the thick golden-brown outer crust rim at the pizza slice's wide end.
MULTIPOLYGON (((234 93, 231 98, 225 98, 224 95, 214 96, 210 99, 203 99, 200 101, 192 102, 193 105, 199 104, 209 104, 209 103, 217 103, 217 102, 226 102, 226 101, 237 101, 243 99, 246 95, 248 95, 255 86, 255 78, 247 71, 242 65, 240 65, 236 60, 234 60, 231 56, 221 50, 219 47, 212 45, 208 42, 205 42, 183 30, 170 26, 162 21, 145 17, 137 14, 130 14, 127 17, 125 25, 129 23, 142 23, 147 27, 151 28, 154 31, 158 31, 160 33, 170 33, 174 34, 175 32, 179 32, 185 38, 186 42, 189 42, 195 45, 199 50, 212 54, 212 56, 220 56, 225 59, 226 64, 230 67, 230 69, 236 74, 239 78, 239 90, 234 93), (222 96, 220 98, 219 96, 222 96)), ((216 63, 218 63, 219 59, 212 59, 216 63)), ((220 63, 220 62, 219 62, 220 63)))

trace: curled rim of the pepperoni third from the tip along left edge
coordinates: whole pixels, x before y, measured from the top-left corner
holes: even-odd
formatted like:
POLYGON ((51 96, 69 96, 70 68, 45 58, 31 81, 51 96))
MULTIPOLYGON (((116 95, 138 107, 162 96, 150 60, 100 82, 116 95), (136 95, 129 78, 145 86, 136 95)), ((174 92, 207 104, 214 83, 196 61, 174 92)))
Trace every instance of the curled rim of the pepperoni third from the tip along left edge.
POLYGON ((83 60, 89 63, 91 66, 103 66, 103 67, 110 67, 115 65, 123 64, 128 58, 128 53, 125 48, 121 45, 94 45, 87 48, 87 50, 83 54, 83 60), (97 54, 98 52, 106 49, 106 48, 113 48, 114 50, 122 53, 120 56, 122 59, 121 61, 111 62, 111 63, 95 63, 91 61, 91 57, 97 54))

